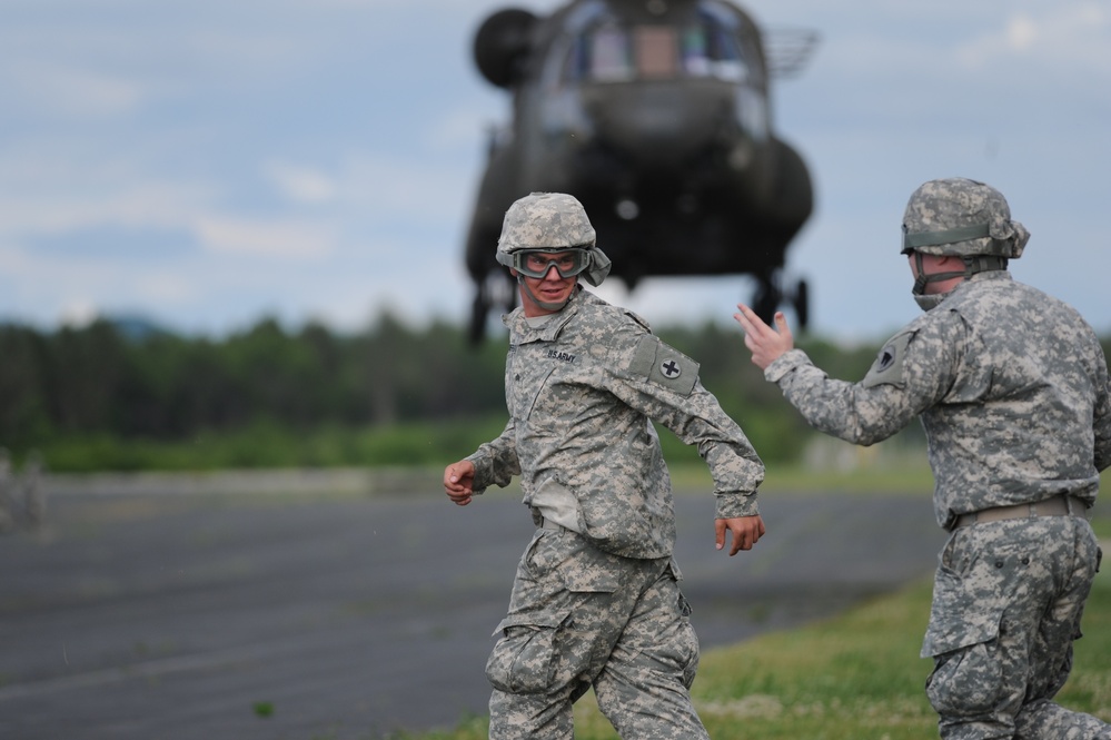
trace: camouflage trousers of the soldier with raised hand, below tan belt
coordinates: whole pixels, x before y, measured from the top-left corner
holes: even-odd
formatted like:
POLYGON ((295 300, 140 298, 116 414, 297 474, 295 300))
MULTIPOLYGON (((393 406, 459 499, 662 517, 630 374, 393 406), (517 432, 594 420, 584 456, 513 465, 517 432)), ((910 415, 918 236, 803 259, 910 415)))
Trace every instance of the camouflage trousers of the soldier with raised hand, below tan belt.
POLYGON ((939 558, 923 658, 945 740, 1111 739, 1053 701, 1072 670, 1100 552, 1089 523, 1043 516, 953 532, 939 558))

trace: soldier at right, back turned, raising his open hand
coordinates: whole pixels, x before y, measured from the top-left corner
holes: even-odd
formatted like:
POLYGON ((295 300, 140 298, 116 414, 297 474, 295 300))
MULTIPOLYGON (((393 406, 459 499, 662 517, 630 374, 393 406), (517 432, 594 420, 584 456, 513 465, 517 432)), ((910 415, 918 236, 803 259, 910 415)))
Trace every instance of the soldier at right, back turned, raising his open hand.
POLYGON ((1111 463, 1107 359, 1067 304, 1013 280, 1029 234, 994 188, 932 180, 911 196, 903 254, 925 312, 860 383, 830 378, 747 306, 752 361, 817 430, 870 445, 921 418, 939 556, 922 657, 945 740, 1111 738, 1053 701, 1101 552, 1088 522, 1111 463))

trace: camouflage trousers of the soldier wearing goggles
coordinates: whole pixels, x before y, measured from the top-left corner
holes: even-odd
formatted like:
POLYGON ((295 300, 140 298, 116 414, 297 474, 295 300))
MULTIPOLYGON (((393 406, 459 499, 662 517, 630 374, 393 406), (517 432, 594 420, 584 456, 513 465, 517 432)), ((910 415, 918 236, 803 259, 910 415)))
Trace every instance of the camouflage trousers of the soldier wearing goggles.
POLYGON ((486 664, 490 739, 571 740, 572 706, 593 685, 622 738, 708 740, 688 691, 698 664, 688 615, 669 559, 537 530, 486 664))

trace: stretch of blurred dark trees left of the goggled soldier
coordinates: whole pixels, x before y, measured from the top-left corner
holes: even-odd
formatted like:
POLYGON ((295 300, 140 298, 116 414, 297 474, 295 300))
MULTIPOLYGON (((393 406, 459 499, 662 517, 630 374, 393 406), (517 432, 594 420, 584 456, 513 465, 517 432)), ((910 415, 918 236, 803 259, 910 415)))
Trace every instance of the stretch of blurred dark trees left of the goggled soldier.
POLYGON ((108 319, 54 332, 8 324, 0 443, 90 433, 182 440, 258 420, 305 431, 486 413, 504 398, 504 355, 493 344, 470 352, 460 337, 446 324, 411 330, 389 314, 354 335, 264 318, 218 341, 108 319))

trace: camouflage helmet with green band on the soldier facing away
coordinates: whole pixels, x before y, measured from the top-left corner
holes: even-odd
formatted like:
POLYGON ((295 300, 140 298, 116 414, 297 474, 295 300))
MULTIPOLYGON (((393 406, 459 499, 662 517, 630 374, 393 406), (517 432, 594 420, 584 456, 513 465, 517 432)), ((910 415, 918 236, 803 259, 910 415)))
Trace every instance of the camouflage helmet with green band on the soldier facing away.
POLYGON ((1025 227, 1011 220, 1003 194, 963 177, 925 182, 903 214, 903 254, 1014 259, 1029 238, 1025 227))

